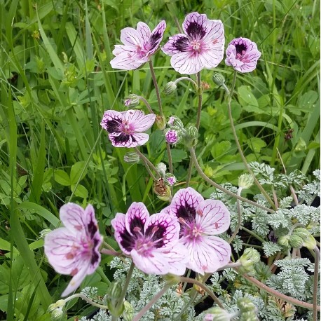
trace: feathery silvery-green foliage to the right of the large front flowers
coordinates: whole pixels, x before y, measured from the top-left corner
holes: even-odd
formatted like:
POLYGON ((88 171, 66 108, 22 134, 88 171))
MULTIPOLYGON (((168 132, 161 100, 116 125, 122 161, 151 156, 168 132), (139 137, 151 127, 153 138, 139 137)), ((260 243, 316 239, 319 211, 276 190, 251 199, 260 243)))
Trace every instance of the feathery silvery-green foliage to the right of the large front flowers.
MULTIPOLYGON (((314 259, 310 261, 301 257, 301 252, 310 252, 310 257, 313 257, 315 237, 320 236, 320 205, 315 207, 313 204, 316 198, 320 198, 320 170, 315 170, 311 182, 308 182, 308 178, 299 170, 289 175, 274 175, 274 169, 266 164, 251 163, 250 167, 266 191, 270 190, 272 197, 272 191, 278 196, 278 210, 271 214, 240 202, 240 231, 243 230, 241 233, 248 237, 241 238, 239 232, 233 240, 233 250, 240 257, 246 248, 251 247, 252 240, 255 239, 254 247, 261 251, 261 260, 262 257, 264 259, 254 264, 251 273, 248 274, 282 294, 313 303, 314 259), (289 196, 290 190, 294 191, 298 198, 297 205, 294 204, 293 196, 289 196), (302 231, 303 239, 298 238, 302 231), (309 239, 306 238, 307 235, 310 236, 309 239), (307 240, 311 242, 308 243, 307 240), (274 268, 270 268, 272 262, 274 268)), ((233 193, 238 190, 231 184, 225 184, 224 187, 233 193)), ((231 232, 224 235, 228 240, 238 223, 235 199, 221 191, 212 193, 211 198, 222 200, 231 212, 231 232)), ((269 207, 261 194, 255 195, 254 200, 269 207)), ((235 261, 238 257, 234 257, 235 261)), ((212 285, 209 287, 219 295, 228 313, 237 312, 238 300, 245 297, 257 307, 258 320, 312 320, 311 311, 260 291, 232 269, 223 273, 213 273, 210 281, 212 285)), ((317 295, 319 302, 320 278, 317 295)))

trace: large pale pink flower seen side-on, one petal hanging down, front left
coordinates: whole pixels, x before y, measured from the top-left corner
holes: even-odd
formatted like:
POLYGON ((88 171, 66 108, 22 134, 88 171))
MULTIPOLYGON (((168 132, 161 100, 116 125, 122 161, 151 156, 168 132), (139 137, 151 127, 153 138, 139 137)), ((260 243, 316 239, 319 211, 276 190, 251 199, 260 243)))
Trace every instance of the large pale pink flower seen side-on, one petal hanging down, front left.
POLYGON ((60 219, 64 227, 46 235, 44 248, 55 271, 73 277, 62 292, 62 296, 67 296, 100 264, 98 249, 102 244, 102 236, 92 205, 83 210, 77 204, 67 203, 60 207, 60 219))

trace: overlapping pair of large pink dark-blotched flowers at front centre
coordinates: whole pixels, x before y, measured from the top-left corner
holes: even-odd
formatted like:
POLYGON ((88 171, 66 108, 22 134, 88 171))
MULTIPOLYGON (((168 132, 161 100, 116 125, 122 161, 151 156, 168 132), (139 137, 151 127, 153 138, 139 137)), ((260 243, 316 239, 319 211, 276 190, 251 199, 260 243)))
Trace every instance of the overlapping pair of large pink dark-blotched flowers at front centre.
POLYGON ((111 221, 123 253, 145 273, 182 275, 185 268, 213 273, 231 257, 230 245, 218 238, 230 225, 219 200, 204 200, 194 189, 181 189, 161 213, 149 216, 143 203, 111 221))

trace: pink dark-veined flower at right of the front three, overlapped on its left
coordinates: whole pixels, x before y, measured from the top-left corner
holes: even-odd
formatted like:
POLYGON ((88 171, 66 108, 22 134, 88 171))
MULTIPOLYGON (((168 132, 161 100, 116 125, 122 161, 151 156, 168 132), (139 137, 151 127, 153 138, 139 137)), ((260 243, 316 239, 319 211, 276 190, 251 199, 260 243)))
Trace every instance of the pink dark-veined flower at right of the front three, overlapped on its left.
POLYGON ((189 251, 191 268, 198 273, 213 273, 230 261, 231 247, 217 234, 230 225, 230 213, 220 200, 204 200, 191 187, 180 189, 161 214, 174 214, 181 231, 179 241, 189 251))

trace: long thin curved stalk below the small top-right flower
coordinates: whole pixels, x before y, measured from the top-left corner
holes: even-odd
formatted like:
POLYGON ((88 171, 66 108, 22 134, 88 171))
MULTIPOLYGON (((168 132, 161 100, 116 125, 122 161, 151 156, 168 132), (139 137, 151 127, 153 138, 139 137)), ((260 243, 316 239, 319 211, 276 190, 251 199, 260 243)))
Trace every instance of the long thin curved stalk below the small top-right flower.
POLYGON ((247 160, 246 160, 246 158, 244 156, 244 153, 242 151, 242 148, 240 146, 240 142, 238 141, 238 135, 236 134, 235 126, 234 126, 234 123, 233 123, 232 109, 231 109, 232 95, 233 95, 233 91, 234 91, 234 88, 235 88, 235 82, 236 82, 236 74, 237 74, 237 71, 235 70, 234 71, 234 75, 233 75, 233 82, 232 82, 231 90, 229 92, 228 92, 228 90, 226 90, 227 89, 226 86, 224 86, 226 94, 228 94, 228 102, 227 102, 228 118, 230 119, 231 129, 232 129, 232 132, 233 132, 235 144, 238 147, 238 152, 240 153, 240 156, 241 156, 242 161, 243 161, 243 163, 245 165, 245 168, 247 169, 247 172, 249 172, 250 175, 252 175, 252 177, 254 179, 254 183, 257 185, 257 187, 259 188, 261 193, 264 195, 266 200, 268 200, 268 203, 270 203, 271 206, 274 208, 275 205, 273 203, 273 200, 271 200, 270 196, 268 196, 268 193, 266 193, 265 189, 261 186, 261 184, 259 183, 257 178, 254 176, 252 170, 250 169, 250 166, 247 163, 247 160))

